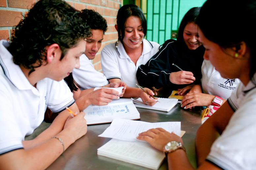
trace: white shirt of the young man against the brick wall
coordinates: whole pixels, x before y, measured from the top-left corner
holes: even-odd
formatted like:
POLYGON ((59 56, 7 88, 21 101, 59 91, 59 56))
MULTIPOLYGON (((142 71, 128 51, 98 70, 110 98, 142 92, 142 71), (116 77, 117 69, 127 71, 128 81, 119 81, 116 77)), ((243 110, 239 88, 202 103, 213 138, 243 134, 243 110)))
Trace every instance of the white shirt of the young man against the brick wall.
POLYGON ((94 66, 85 54, 80 56, 80 68, 73 70, 73 78, 81 90, 109 84, 106 76, 94 69, 94 66))

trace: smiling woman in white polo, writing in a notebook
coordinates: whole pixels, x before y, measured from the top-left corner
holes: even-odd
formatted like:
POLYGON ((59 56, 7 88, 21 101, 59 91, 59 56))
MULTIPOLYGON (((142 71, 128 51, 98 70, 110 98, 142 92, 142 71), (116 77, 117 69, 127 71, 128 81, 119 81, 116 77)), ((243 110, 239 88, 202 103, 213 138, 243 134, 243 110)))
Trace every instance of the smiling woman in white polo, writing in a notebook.
MULTIPOLYGON (((147 32, 146 18, 136 5, 124 5, 117 13, 115 29, 118 40, 102 49, 102 70, 110 83, 123 81, 127 84, 123 97, 140 97, 145 104, 154 105, 156 99, 149 97, 137 87, 136 71, 156 52, 159 44, 144 38, 147 32)), ((145 88, 154 95, 153 91, 145 88)))

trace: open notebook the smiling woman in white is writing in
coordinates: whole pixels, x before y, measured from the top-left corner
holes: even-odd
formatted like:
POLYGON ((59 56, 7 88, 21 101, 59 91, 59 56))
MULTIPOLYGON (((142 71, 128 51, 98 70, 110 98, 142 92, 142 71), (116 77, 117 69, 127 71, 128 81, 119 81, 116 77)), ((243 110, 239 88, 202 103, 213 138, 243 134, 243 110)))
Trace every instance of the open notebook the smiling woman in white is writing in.
POLYGON ((159 102, 156 102, 154 106, 145 105, 141 98, 133 99, 133 103, 136 108, 153 109, 160 111, 170 111, 177 103, 178 99, 158 98, 159 102))

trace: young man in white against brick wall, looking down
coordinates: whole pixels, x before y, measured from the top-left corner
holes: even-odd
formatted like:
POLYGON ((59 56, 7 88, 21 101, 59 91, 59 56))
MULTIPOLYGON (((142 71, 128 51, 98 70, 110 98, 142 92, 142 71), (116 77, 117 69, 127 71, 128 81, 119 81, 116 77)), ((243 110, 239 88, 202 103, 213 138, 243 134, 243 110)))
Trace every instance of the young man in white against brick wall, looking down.
POLYGON ((80 89, 84 90, 109 84, 105 75, 95 70, 90 61, 99 51, 108 26, 106 19, 93 10, 82 10, 82 18, 91 28, 92 36, 86 39, 85 53, 80 56, 80 68, 74 69, 73 77, 80 89))

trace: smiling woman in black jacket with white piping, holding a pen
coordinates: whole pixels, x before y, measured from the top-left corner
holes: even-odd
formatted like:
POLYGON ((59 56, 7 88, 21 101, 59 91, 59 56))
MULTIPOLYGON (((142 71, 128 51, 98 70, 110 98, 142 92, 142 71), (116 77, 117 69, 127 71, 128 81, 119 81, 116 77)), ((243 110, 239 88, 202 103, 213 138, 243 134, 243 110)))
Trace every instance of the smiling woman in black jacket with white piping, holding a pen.
POLYGON ((165 94, 169 95, 172 90, 201 83, 205 48, 199 41, 195 24, 199 12, 200 7, 191 8, 180 23, 177 40, 165 41, 158 53, 139 66, 136 76, 140 85, 164 87, 168 90, 165 94))

